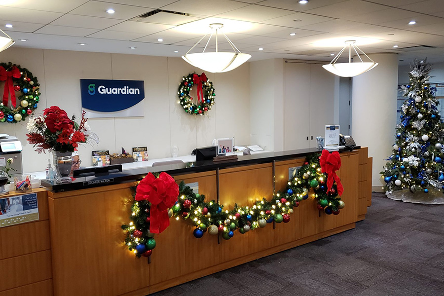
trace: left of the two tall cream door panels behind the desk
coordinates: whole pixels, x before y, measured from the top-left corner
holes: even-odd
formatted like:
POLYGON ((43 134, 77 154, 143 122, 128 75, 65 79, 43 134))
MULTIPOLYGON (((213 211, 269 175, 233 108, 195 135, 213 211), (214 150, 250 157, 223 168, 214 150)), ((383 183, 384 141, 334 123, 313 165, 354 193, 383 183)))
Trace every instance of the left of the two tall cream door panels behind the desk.
POLYGON ((284 64, 285 150, 309 148, 310 64, 284 64))

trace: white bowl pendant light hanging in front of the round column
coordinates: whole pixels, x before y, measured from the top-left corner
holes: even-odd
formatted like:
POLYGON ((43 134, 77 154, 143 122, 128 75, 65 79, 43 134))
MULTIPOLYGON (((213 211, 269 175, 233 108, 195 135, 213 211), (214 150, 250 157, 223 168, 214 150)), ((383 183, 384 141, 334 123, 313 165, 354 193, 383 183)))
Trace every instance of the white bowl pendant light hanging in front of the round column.
POLYGON ((322 67, 327 70, 328 72, 331 72, 335 75, 342 76, 342 77, 353 77, 359 74, 363 74, 367 71, 370 71, 374 67, 378 65, 378 63, 373 62, 372 59, 368 55, 364 53, 358 46, 353 45, 355 43, 355 40, 347 40, 345 41, 345 46, 342 48, 341 51, 334 57, 333 61, 330 62, 328 65, 323 65, 322 67), (348 63, 336 63, 341 54, 345 51, 345 49, 348 47, 348 63), (358 58, 361 60, 361 62, 352 63, 351 62, 351 50, 355 50, 356 54, 358 55, 358 58), (366 57, 369 58, 371 62, 364 62, 358 53, 361 51, 366 57))

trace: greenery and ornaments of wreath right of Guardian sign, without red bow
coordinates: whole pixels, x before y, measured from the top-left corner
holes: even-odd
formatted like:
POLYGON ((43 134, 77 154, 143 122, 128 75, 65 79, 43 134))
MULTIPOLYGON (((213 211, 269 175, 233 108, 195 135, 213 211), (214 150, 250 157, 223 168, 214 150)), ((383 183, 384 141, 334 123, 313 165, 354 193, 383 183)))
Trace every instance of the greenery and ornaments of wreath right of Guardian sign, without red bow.
POLYGON ((213 82, 211 82, 210 79, 207 79, 207 81, 202 83, 204 102, 197 102, 197 98, 191 97, 189 93, 194 85, 194 74, 196 73, 190 73, 187 76, 182 77, 182 82, 180 83, 179 89, 177 91, 177 94, 179 96, 179 103, 182 105, 186 113, 194 115, 204 115, 209 110, 211 110, 211 106, 214 105, 214 97, 216 96, 216 94, 214 92, 215 90, 213 82), (195 103, 197 103, 197 105, 195 103))

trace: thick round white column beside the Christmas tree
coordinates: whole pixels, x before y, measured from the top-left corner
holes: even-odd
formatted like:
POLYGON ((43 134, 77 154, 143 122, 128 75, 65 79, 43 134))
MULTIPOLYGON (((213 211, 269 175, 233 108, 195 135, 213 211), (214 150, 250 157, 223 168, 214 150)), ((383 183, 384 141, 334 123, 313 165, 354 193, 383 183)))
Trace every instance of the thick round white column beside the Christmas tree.
MULTIPOLYGON (((373 157, 373 189, 381 188, 379 172, 394 144, 398 87, 398 55, 369 54, 376 68, 353 77, 352 135, 373 157)), ((359 59, 354 59, 358 62, 359 59)))

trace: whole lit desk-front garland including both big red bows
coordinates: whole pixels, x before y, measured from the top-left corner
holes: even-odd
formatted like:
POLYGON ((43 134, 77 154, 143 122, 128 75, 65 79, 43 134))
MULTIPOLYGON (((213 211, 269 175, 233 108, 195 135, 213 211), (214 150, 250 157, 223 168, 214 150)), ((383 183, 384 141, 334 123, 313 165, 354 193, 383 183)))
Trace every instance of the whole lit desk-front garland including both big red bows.
POLYGON ((276 193, 270 201, 258 200, 252 207, 235 204, 232 210, 224 210, 215 200, 206 202, 204 195, 194 193, 184 182, 178 186, 165 172, 158 178, 148 173, 136 187, 131 222, 122 225, 126 231, 125 244, 137 257, 149 257, 156 246, 154 234, 165 230, 172 216, 193 224, 196 238, 208 230, 211 235, 221 234, 229 240, 236 230, 244 234, 268 223, 290 222, 293 209, 310 196, 317 200, 320 211, 337 215, 345 207, 338 197, 343 191, 335 172, 340 167, 338 157, 337 151, 326 150, 322 155, 309 155, 284 192, 276 193))

